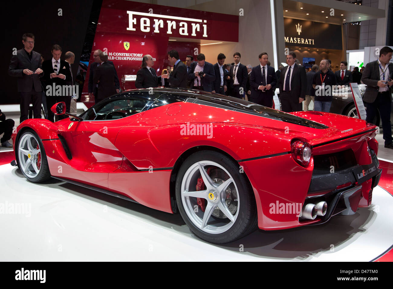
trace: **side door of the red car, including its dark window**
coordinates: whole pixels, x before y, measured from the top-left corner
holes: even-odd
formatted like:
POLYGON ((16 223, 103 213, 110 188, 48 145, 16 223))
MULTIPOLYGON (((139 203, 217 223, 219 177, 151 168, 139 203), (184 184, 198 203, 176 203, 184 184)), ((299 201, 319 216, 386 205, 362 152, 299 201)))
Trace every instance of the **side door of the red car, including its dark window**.
POLYGON ((107 188, 108 173, 123 162, 123 154, 114 145, 119 130, 137 121, 152 102, 138 94, 115 96, 87 110, 81 115, 83 121, 70 119, 60 137, 70 151, 67 164, 71 169, 63 170, 61 176, 107 188))

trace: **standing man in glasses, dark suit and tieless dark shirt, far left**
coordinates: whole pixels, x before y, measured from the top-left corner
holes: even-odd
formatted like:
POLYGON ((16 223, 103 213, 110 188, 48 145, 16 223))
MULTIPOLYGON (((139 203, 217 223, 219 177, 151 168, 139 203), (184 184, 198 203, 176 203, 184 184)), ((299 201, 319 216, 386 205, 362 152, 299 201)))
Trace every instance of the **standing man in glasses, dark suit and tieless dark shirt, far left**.
POLYGON ((22 36, 24 48, 12 55, 8 74, 18 77, 20 96, 20 122, 29 116, 30 101, 33 103, 34 118, 41 118, 42 87, 40 77, 44 75, 41 67, 40 53, 33 51, 35 37, 31 33, 22 36))

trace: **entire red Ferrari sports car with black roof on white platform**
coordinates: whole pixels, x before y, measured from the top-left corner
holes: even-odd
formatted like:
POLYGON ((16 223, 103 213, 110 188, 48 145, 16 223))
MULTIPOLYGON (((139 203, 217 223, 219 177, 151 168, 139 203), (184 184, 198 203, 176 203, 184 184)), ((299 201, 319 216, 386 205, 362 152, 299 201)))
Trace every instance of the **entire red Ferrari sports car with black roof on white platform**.
POLYGON ((338 114, 140 89, 55 123, 24 121, 13 164, 31 182, 53 177, 178 211, 196 236, 228 243, 257 227, 317 225, 369 206, 382 172, 375 134, 338 114))

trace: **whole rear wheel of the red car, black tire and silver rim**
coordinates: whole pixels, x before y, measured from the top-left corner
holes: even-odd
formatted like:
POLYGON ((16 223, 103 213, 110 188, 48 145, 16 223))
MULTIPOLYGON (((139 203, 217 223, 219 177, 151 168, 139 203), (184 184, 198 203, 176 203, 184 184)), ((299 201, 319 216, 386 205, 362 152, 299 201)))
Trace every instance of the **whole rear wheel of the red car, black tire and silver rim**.
POLYGON ((257 228, 247 177, 238 164, 215 151, 185 160, 176 179, 176 202, 190 230, 210 243, 229 243, 257 228))

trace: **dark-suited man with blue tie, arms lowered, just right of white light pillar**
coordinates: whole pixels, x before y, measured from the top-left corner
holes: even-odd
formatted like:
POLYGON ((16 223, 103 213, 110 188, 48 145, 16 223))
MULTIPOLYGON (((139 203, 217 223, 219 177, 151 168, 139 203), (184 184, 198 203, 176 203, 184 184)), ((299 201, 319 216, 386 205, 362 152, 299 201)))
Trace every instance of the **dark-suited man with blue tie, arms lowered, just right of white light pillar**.
POLYGON ((284 112, 301 111, 302 101, 306 98, 307 77, 303 66, 295 63, 296 53, 286 55, 288 66, 281 70, 279 89, 281 110, 284 112))

